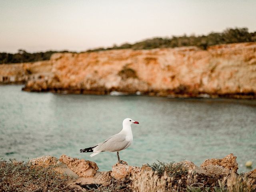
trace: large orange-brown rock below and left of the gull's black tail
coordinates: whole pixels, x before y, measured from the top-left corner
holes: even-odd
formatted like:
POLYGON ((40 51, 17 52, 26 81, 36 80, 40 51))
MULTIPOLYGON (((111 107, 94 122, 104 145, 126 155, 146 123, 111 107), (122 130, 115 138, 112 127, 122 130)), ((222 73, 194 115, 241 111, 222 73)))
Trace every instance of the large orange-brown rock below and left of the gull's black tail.
POLYGON ((80 177, 93 177, 99 169, 97 164, 92 161, 72 158, 67 155, 60 157, 60 162, 66 164, 73 172, 80 177))

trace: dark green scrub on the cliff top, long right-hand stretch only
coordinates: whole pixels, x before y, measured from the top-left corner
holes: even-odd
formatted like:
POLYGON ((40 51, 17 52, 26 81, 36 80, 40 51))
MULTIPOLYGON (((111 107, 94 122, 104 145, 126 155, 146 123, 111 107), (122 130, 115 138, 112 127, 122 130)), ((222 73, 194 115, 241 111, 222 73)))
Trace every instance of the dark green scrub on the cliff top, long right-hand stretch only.
POLYGON ((248 32, 248 28, 228 28, 223 32, 211 32, 208 35, 201 36, 172 36, 171 38, 151 38, 146 39, 134 44, 125 43, 120 46, 112 46, 109 48, 97 48, 88 51, 102 51, 113 49, 154 49, 154 48, 174 48, 181 46, 198 46, 204 50, 208 46, 227 43, 240 43, 240 42, 256 42, 256 31, 248 32))

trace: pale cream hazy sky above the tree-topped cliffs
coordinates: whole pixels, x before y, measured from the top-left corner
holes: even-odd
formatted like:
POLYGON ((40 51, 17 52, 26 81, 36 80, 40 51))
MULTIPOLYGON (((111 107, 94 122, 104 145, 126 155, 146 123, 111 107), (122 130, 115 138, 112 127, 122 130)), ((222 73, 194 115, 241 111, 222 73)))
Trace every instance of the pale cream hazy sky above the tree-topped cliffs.
POLYGON ((0 52, 84 51, 235 27, 256 31, 256 0, 0 0, 0 52))

